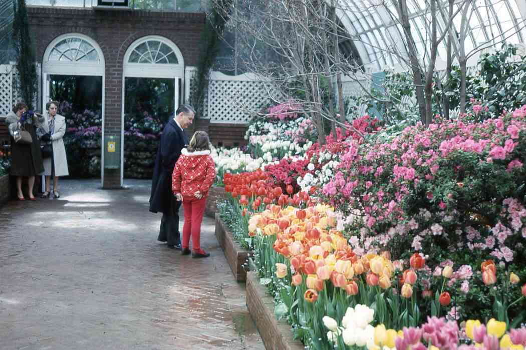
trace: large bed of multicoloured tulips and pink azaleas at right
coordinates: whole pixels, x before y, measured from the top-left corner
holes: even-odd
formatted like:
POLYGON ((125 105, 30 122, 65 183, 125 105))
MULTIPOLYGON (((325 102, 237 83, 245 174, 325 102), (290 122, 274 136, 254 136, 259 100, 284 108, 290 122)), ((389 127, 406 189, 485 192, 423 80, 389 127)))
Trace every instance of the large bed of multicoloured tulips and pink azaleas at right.
POLYGON ((225 174, 232 229, 307 347, 524 348, 526 106, 471 117, 225 174))

